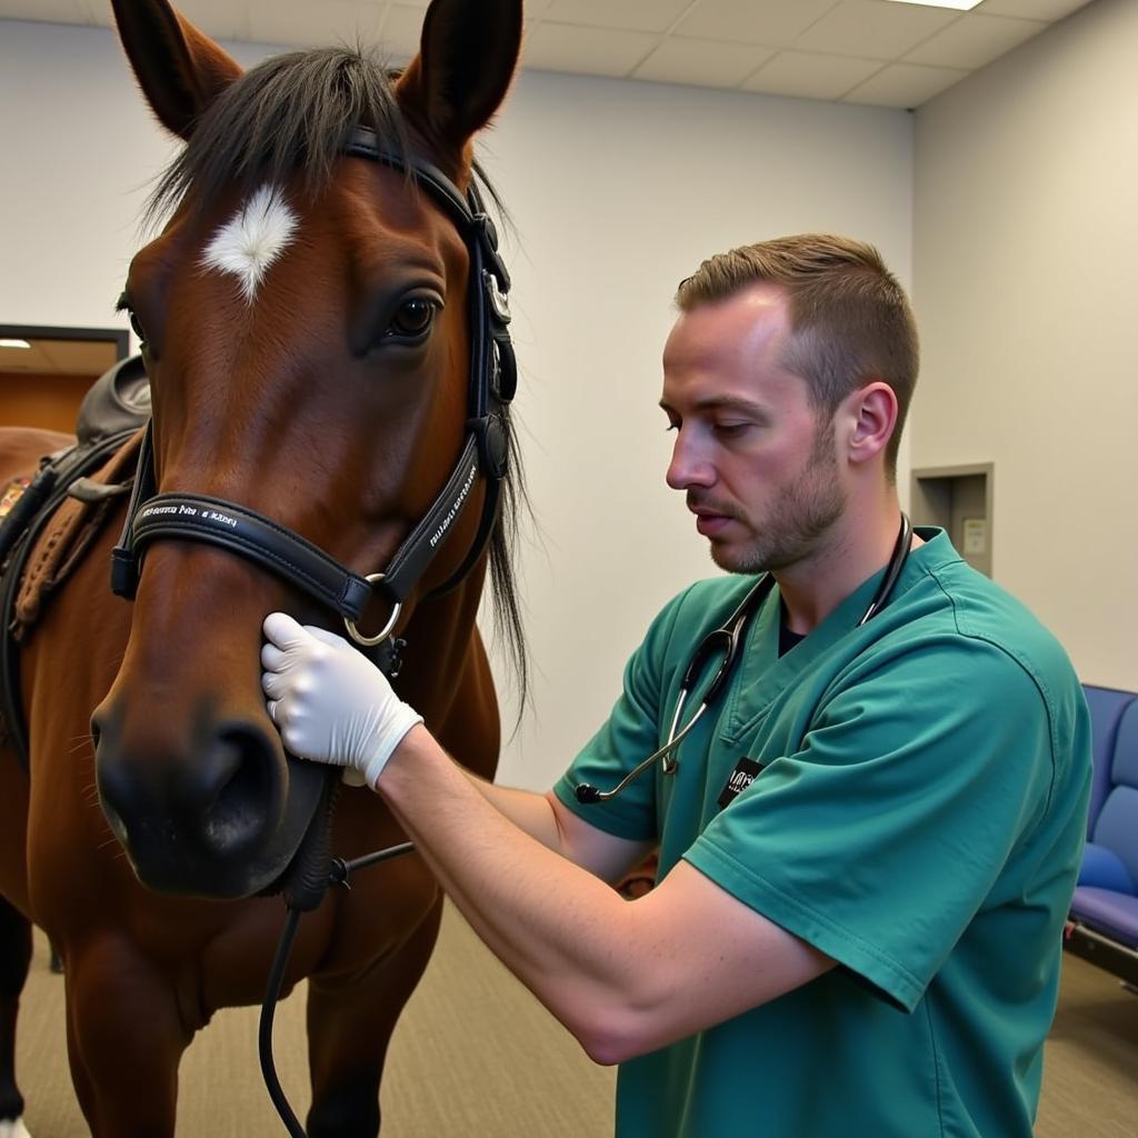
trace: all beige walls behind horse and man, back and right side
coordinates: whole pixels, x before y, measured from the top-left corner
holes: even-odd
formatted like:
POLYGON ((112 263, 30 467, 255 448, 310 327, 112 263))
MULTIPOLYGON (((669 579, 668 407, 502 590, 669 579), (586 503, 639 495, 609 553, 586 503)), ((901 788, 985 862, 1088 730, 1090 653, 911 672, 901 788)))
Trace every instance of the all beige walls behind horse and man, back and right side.
MULTIPOLYGON (((523 77, 486 152, 517 226, 538 522, 534 704, 508 781, 556 775, 645 621, 711 571, 662 483, 671 290, 710 251, 795 230, 875 241, 906 282, 915 263, 913 463, 995 462, 997 579, 1086 679, 1138 687, 1136 58, 1138 5, 1098 0, 918 112, 915 157, 904 113, 523 77)), ((172 148, 114 38, 0 22, 0 322, 121 327, 138 211, 172 148)))

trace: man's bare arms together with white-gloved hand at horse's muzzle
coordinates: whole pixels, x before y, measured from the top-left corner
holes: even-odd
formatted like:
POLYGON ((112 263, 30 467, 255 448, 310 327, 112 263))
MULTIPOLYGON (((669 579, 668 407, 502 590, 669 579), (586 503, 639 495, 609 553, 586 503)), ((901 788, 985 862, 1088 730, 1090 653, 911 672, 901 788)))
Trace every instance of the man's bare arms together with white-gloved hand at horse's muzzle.
POLYGON ((654 1050, 833 966, 685 863, 624 900, 594 873, 635 860, 641 843, 476 785, 343 638, 283 613, 264 627, 262 686, 288 749, 379 789, 481 938, 597 1062, 654 1050))

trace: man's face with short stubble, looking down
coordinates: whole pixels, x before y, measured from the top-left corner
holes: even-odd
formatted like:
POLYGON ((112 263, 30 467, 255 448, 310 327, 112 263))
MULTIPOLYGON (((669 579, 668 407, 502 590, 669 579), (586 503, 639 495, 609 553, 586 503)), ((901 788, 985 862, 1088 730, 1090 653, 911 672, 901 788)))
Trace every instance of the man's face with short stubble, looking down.
POLYGON ((684 313, 663 349, 668 485, 732 572, 808 556, 846 506, 833 422, 781 363, 789 336, 780 290, 756 284, 684 313))

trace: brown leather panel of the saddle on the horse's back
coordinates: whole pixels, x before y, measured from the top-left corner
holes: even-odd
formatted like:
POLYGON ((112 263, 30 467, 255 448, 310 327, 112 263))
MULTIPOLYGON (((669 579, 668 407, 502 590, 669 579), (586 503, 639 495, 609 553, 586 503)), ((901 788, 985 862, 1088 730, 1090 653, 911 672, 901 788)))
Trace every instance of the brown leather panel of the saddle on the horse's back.
MULTIPOLYGON (((89 480, 105 486, 127 483, 138 464, 141 442, 140 432, 102 467, 89 475, 89 480)), ((13 613, 11 635, 15 640, 23 640, 39 619, 47 599, 79 564, 118 501, 116 497, 108 497, 101 502, 80 502, 67 497, 56 510, 24 568, 13 613)))

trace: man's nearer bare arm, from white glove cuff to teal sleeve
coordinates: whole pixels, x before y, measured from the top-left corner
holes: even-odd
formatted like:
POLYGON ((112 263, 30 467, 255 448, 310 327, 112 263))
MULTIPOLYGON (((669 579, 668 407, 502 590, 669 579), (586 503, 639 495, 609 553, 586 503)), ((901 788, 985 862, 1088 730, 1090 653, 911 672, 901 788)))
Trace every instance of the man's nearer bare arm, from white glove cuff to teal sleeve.
POLYGON ((541 834, 556 823, 538 825, 535 840, 421 726, 379 789, 479 935, 600 1063, 654 1050, 833 966, 686 863, 624 900, 546 848, 541 834))

